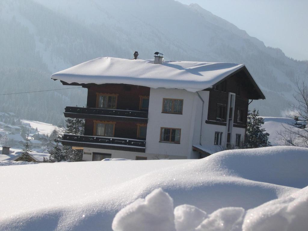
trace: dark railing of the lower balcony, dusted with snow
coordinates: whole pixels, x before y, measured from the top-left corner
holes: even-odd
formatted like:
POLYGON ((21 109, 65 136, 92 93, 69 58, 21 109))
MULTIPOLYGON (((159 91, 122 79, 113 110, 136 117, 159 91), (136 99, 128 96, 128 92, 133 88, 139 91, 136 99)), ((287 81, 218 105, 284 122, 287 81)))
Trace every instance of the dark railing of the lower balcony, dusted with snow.
MULTIPOLYGON (((133 139, 124 139, 116 137, 106 137, 106 136, 81 136, 81 135, 72 135, 72 134, 63 134, 62 143, 66 141, 69 142, 80 142, 80 143, 93 143, 93 144, 106 144, 106 145, 119 145, 119 146, 135 146, 145 148, 144 140, 133 140, 133 139)), ((65 144, 66 145, 66 144, 65 144)), ((75 145, 74 145, 75 146, 75 145)), ((80 144, 83 147, 82 144, 80 144)))

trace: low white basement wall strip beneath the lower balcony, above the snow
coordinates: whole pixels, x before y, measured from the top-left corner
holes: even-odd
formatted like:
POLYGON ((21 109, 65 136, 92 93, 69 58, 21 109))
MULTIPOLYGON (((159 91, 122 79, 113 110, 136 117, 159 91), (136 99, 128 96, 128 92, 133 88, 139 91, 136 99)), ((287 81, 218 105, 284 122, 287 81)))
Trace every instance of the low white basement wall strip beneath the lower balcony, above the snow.
MULTIPOLYGON (((83 148, 83 152, 91 153, 91 155, 83 154, 83 160, 92 161, 93 156, 92 152, 100 152, 100 153, 108 153, 111 154, 111 158, 124 158, 130 160, 136 160, 136 156, 147 157, 148 160, 156 160, 156 159, 165 159, 167 156, 153 154, 153 153, 144 153, 144 152, 128 152, 128 151, 119 151, 119 150, 109 150, 109 149, 101 149, 101 148, 83 148)), ((185 156, 168 156, 170 159, 186 159, 185 156)))

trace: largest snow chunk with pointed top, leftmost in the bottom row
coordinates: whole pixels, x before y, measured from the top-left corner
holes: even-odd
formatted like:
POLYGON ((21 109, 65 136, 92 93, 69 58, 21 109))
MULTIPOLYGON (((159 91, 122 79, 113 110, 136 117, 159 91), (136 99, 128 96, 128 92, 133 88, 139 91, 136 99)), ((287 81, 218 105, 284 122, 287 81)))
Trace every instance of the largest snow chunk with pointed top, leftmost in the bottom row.
POLYGON ((114 231, 175 231, 173 200, 161 188, 121 209, 112 222, 114 231))

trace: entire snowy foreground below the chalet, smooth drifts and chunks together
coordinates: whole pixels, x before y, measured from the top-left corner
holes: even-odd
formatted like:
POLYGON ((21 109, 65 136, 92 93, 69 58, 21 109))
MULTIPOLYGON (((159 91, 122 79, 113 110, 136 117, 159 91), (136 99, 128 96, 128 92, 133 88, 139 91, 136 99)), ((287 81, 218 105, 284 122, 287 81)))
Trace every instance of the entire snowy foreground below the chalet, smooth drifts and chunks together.
POLYGON ((308 185, 307 163, 306 148, 284 146, 223 151, 201 160, 2 166, 1 191, 9 196, 0 197, 0 230, 111 230, 115 214, 156 188, 163 191, 135 202, 148 216, 140 216, 136 204, 131 205, 131 210, 117 215, 115 230, 132 230, 129 220, 140 227, 147 222, 153 225, 152 220, 165 222, 171 225, 166 226, 171 227, 168 230, 175 230, 172 222, 166 222, 172 221, 173 206, 184 204, 191 206, 176 208, 177 231, 194 230, 192 226, 200 226, 197 230, 291 230, 288 225, 295 221, 296 230, 303 230, 308 197, 307 188, 301 188, 308 185))

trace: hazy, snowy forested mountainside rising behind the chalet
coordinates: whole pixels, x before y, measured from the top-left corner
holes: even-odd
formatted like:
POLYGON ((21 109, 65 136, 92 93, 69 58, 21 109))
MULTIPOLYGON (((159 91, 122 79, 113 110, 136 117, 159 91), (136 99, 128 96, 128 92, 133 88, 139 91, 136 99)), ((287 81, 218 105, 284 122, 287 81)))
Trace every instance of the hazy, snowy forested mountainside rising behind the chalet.
MULTIPOLYGON (((239 12, 240 13, 240 12, 239 12)), ((245 31, 197 4, 173 0, 0 1, 1 94, 64 88, 53 72, 103 56, 245 63, 266 96, 251 108, 280 116, 308 62, 265 47, 245 31)), ((86 90, 2 95, 0 111, 59 124, 65 106, 84 106, 86 90)))

